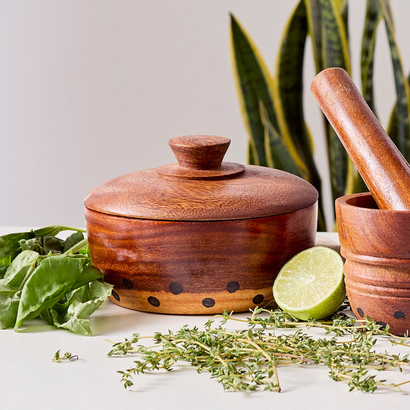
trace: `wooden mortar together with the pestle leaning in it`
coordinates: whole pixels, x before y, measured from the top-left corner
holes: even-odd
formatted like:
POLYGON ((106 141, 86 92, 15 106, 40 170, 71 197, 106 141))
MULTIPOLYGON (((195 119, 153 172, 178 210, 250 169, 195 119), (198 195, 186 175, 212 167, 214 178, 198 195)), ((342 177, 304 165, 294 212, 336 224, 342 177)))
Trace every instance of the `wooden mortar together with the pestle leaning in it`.
POLYGON ((346 293, 358 319, 410 331, 410 167, 340 68, 312 93, 370 190, 336 200, 346 293))

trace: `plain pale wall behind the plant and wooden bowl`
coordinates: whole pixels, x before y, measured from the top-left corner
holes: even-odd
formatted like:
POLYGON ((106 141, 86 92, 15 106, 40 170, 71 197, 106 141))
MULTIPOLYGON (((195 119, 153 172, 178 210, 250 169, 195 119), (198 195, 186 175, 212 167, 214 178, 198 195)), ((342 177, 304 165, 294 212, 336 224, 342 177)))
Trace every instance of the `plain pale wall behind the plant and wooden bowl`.
MULTIPOLYGON (((350 1, 353 79, 365 0, 350 1)), ((83 199, 108 179, 175 162, 169 138, 232 139, 226 159, 247 162, 229 46, 229 13, 271 71, 296 0, 0 0, 0 226, 84 226, 83 199)), ((410 2, 392 0, 408 72, 410 2)), ((322 125, 309 92, 306 118, 327 182, 322 125)), ((394 101, 384 27, 376 52, 382 125, 394 101)), ((330 204, 330 199, 325 197, 330 204)), ((328 219, 331 215, 328 212, 328 219)))

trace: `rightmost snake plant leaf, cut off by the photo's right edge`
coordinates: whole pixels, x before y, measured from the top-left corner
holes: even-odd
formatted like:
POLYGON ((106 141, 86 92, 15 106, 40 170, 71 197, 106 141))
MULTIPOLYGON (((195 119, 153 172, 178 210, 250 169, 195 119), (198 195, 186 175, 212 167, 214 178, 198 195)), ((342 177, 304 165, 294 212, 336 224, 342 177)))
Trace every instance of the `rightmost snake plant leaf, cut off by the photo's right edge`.
POLYGON ((392 131, 393 129, 395 130, 395 133, 391 133, 391 138, 395 142, 400 152, 408 160, 410 158, 409 83, 403 71, 403 64, 401 61, 399 47, 396 41, 392 11, 390 9, 389 2, 388 0, 379 0, 379 4, 386 26, 397 95, 397 122, 394 127, 390 127, 389 131, 392 131))

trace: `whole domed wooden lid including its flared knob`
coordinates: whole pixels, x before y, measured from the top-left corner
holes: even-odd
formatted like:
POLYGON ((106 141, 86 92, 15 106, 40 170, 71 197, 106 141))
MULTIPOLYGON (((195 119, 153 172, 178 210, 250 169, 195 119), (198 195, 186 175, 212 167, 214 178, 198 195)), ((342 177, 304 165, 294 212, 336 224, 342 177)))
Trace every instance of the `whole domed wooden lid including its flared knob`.
POLYGON ((129 218, 204 221, 279 215, 317 201, 316 189, 296 175, 222 162, 230 142, 203 135, 172 138, 178 163, 103 183, 87 195, 85 206, 129 218))

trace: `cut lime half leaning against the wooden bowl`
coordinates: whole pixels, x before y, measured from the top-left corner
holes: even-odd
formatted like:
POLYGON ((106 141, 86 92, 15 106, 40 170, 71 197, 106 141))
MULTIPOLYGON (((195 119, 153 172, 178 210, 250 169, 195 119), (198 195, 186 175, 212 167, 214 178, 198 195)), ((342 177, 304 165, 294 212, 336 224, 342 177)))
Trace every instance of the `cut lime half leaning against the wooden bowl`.
POLYGON ((284 312, 308 320, 335 313, 346 295, 343 260, 330 248, 306 249, 286 262, 273 284, 273 297, 284 312))

